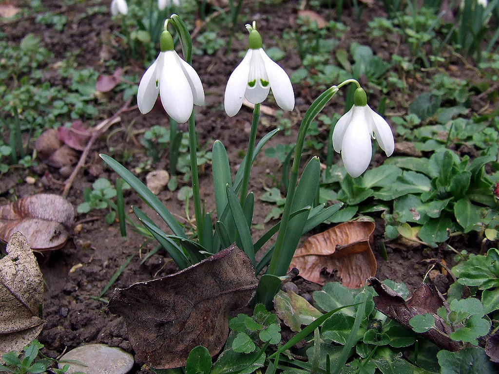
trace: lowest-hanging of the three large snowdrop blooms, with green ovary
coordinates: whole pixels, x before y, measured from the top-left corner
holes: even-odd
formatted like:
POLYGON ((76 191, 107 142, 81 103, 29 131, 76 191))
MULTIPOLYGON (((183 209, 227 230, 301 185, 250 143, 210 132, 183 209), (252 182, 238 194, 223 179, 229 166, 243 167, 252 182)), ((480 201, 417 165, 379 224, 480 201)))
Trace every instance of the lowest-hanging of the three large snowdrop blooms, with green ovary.
POLYGON ((333 148, 341 152, 346 171, 352 177, 364 173, 371 162, 371 136, 387 156, 395 147, 390 125, 367 105, 366 93, 357 88, 352 109, 345 113, 333 130, 333 148))

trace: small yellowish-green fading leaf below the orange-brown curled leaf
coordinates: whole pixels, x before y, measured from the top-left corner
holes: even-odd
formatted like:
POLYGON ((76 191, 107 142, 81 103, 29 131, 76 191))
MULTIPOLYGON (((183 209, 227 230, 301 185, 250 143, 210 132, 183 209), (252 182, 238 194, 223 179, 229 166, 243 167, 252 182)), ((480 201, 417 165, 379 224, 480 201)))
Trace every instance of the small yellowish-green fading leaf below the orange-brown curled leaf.
POLYGON ((295 333, 301 330, 301 325, 310 325, 322 316, 308 301, 291 290, 279 290, 274 296, 274 307, 277 317, 295 333))

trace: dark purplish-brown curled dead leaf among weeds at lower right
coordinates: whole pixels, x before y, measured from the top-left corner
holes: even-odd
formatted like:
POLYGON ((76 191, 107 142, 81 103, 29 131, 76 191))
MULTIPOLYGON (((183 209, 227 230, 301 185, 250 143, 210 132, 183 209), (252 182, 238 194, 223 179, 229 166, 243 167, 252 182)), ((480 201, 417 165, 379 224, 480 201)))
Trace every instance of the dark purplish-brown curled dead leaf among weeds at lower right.
POLYGON ((409 320, 412 317, 430 313, 435 317, 435 327, 447 334, 447 336, 435 331, 435 329, 430 329, 426 333, 417 334, 431 340, 441 349, 448 351, 458 351, 460 349, 459 342, 448 337, 448 335, 452 333, 451 328, 446 325, 444 320, 437 314, 437 310, 442 306, 445 306, 449 312, 449 305, 433 284, 422 283, 421 286, 414 291, 412 297, 405 301, 401 296, 395 293, 395 291, 381 283, 379 279, 371 277, 368 281, 378 294, 378 296, 374 297, 374 304, 376 309, 381 313, 410 330, 412 330, 412 327, 409 325, 409 320))

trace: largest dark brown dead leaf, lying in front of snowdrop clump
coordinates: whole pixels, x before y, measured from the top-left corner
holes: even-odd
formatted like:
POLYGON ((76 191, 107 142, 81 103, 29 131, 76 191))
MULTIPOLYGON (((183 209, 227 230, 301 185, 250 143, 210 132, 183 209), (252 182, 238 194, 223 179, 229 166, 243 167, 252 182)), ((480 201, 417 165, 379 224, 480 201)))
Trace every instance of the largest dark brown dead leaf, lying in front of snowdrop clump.
POLYGON ((233 244, 176 274, 115 289, 108 308, 125 319, 140 360, 178 368, 194 347, 212 356, 222 349, 228 312, 248 304, 257 283, 250 259, 233 244))

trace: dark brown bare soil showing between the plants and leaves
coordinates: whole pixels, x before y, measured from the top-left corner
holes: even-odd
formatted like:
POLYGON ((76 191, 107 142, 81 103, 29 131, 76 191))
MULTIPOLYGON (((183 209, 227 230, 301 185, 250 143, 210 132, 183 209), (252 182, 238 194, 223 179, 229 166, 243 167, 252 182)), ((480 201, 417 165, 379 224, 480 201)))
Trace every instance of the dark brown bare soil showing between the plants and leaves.
MULTIPOLYGON (((93 5, 109 5, 108 1, 94 0, 91 2, 93 5)), ((102 35, 108 30, 116 28, 109 14, 96 13, 78 19, 78 14, 81 14, 83 7, 87 4, 84 2, 75 2, 73 5, 61 7, 58 3, 58 1, 53 0, 44 1, 44 5, 50 7, 52 11, 60 12, 68 17, 69 21, 63 34, 38 23, 35 24, 32 17, 27 17, 16 22, 9 22, 2 26, 3 31, 7 33, 8 39, 12 41, 20 40, 26 32, 35 31, 37 35, 42 37, 43 46, 50 49, 56 56, 74 53, 78 67, 92 66, 98 71, 109 73, 105 71, 103 61, 99 59, 99 51, 103 48, 102 35)), ((244 16, 241 17, 241 23, 244 24, 255 19, 259 30, 262 31, 265 46, 270 47, 275 45, 275 39, 278 37, 272 35, 281 35, 284 29, 297 27, 295 24, 295 15, 298 6, 298 1, 283 1, 279 5, 260 5, 259 7, 247 6, 243 10, 244 16)), ((323 9, 322 15, 326 19, 332 18, 332 13, 327 8, 323 9)), ((352 15, 352 10, 346 8, 343 13, 342 22, 349 29, 342 36, 338 47, 348 49, 352 41, 369 44, 374 52, 382 56, 385 60, 389 59, 392 53, 407 54, 408 51, 404 51, 400 47, 400 44, 396 41, 394 42, 394 40, 369 39, 365 31, 366 25, 370 19, 377 15, 383 15, 380 6, 364 11, 362 19, 356 21, 352 15), (398 49, 395 51, 395 48, 398 49)), ((228 30, 223 28, 221 35, 225 37, 227 36, 227 32, 228 30)), ((235 39, 233 50, 229 56, 226 56, 225 50, 221 49, 212 56, 195 56, 193 62, 206 90, 206 106, 196 109, 199 143, 202 146, 208 143, 208 149, 211 149, 213 141, 220 139, 228 150, 233 170, 237 168, 242 160, 241 151, 247 148, 251 110, 243 108, 236 117, 229 118, 225 114, 221 103, 223 103, 223 94, 227 79, 234 67, 241 60, 238 53, 246 48, 246 41, 240 42, 235 39)), ((291 50, 285 52, 287 53, 286 59, 280 62, 286 71, 292 72, 300 67, 300 60, 295 56, 295 53, 291 50)), ((118 58, 116 52, 111 50, 111 53, 115 53, 112 57, 118 58)), ((460 60, 455 61, 455 63, 460 66, 459 72, 462 74, 462 78, 464 78, 464 75, 473 74, 473 70, 465 68, 460 60)), ((138 63, 133 63, 132 66, 127 66, 127 68, 130 71, 136 71, 141 76, 143 68, 139 65, 138 63)), ((424 73, 422 72, 421 74, 424 73)), ((54 74, 54 76, 55 78, 52 79, 59 79, 56 77, 57 74, 54 74)), ((295 86, 294 88, 297 103, 296 109, 292 113, 285 114, 285 116, 292 120, 293 134, 296 134, 305 110, 311 104, 313 98, 317 97, 320 92, 314 87, 295 86)), ((422 83, 413 82, 411 95, 415 97, 417 92, 423 89, 422 83)), ((374 97, 370 97, 370 100, 378 102, 379 98, 380 93, 375 91, 374 97)), ((110 117, 123 105, 121 95, 116 95, 115 97, 109 96, 108 99, 108 105, 106 108, 102 107, 103 110, 99 114, 96 123, 101 119, 110 117)), ((393 101, 394 107, 397 108, 396 112, 398 114, 406 113, 407 97, 394 95, 390 99, 393 101)), ((275 104, 268 100, 265 104, 276 107, 275 104)), ((480 103, 477 105, 480 105, 480 103)), ((332 113, 333 111, 342 113, 342 106, 342 98, 333 100, 332 104, 325 109, 325 113, 332 113)), ((272 118, 267 118, 267 122, 272 123, 272 118)), ((137 134, 140 134, 152 124, 168 126, 168 119, 162 113, 150 113, 146 116, 142 116, 138 110, 124 113, 121 117, 121 122, 111 128, 115 135, 107 140, 105 137, 99 139, 92 148, 85 168, 83 168, 83 171, 70 190, 69 201, 75 206, 81 203, 83 201, 83 189, 90 187, 99 177, 108 178, 110 181, 116 180, 115 173, 106 168, 97 156, 99 153, 109 154, 108 146, 110 143, 114 147, 113 156, 118 160, 125 152, 132 155, 131 160, 126 164, 130 170, 133 171, 136 166, 146 161, 145 151, 138 142, 140 135, 137 134), (101 171, 91 174, 89 173, 91 167, 93 170, 101 171)), ((262 126, 258 132, 258 139, 272 128, 272 126, 268 128, 262 126)), ((320 135, 321 139, 325 139, 326 136, 327 133, 320 135)), ((286 137, 278 135, 269 144, 289 144, 292 142, 294 142, 293 136, 286 137)), ((307 157, 310 156, 310 154, 307 155, 307 157)), ((382 159, 382 156, 377 155, 374 162, 380 163, 382 159)), ((168 169, 167 157, 163 157, 153 167, 154 169, 168 169)), ((58 170, 43 164, 32 170, 14 170, 1 177, 0 203, 6 203, 15 197, 42 191, 60 193, 61 184, 57 182, 49 183, 46 182, 46 178, 45 180, 42 179, 45 172, 53 180, 60 183, 63 183, 67 177, 61 175, 58 170), (25 183, 24 179, 27 176, 35 176, 37 182, 34 185, 25 183), (44 184, 42 183, 43 181, 45 181, 44 184)), ((277 170, 275 160, 268 159, 263 154, 260 154, 252 169, 252 178, 250 180, 250 189, 255 192, 255 196, 259 196, 264 191, 264 187, 272 185, 271 176, 275 175, 277 179, 280 179, 278 173, 279 170, 277 170)), ((145 174, 145 172, 140 173, 138 177, 144 180, 145 174)), ((214 200, 211 195, 213 183, 209 167, 201 171, 200 184, 202 199, 206 201, 206 209, 211 210, 214 208, 214 200)), ((180 217, 185 216, 185 207, 176 198, 176 192, 172 193, 165 190, 159 194, 159 197, 173 214, 180 217)), ((259 200, 256 201, 253 222, 262 223, 270 210, 270 205, 261 203, 259 200)), ((126 192, 125 204, 127 207, 138 205, 144 208, 146 213, 151 213, 151 210, 148 210, 144 206, 143 202, 133 191, 126 192)), ((155 244, 149 243, 143 245, 143 237, 132 231, 129 231, 128 240, 124 241, 120 236, 118 225, 106 224, 104 222, 105 212, 102 215, 98 214, 99 212, 94 210, 87 215, 77 216, 77 219, 81 220, 81 223, 76 226, 73 239, 69 240, 63 248, 57 251, 38 256, 46 285, 45 301, 43 304, 43 318, 46 321, 46 325, 39 336, 39 340, 45 345, 45 353, 49 356, 56 357, 65 349, 70 350, 83 343, 106 343, 110 346, 121 347, 128 352, 133 352, 127 340, 126 327, 123 320, 111 315, 106 310, 106 304, 95 300, 94 297, 99 295, 101 290, 109 282, 111 276, 129 256, 133 256, 130 264, 112 285, 110 290, 103 295, 103 298, 109 298, 114 287, 126 287, 135 282, 161 277, 177 270, 175 264, 162 251, 151 256, 141 265, 141 259, 148 251, 154 248, 155 244)), ((193 212, 191 212, 191 216, 194 216, 193 212)), ((384 232, 383 220, 377 219, 376 223, 377 228, 373 244, 374 253, 378 260, 376 277, 404 282, 410 290, 414 290, 423 281, 425 274, 431 267, 431 264, 425 260, 444 258, 443 253, 435 250, 423 254, 421 247, 410 247, 407 243, 388 242, 386 246, 388 260, 384 260, 380 252, 384 232)), ((255 236, 259 234, 261 232, 259 233, 254 230, 255 236)), ((477 242, 472 239, 470 239, 469 244, 457 242, 452 244, 458 247, 465 247, 471 251, 476 251, 476 248, 478 248, 477 242)), ((449 265, 452 263, 449 255, 446 255, 445 259, 449 265)), ((437 267, 436 269, 440 268, 437 267)), ((449 279, 445 276, 433 278, 438 278, 438 286, 445 292, 449 279)), ((319 289, 319 286, 310 284, 299 278, 296 278, 295 281, 299 285, 301 293, 311 294, 314 290, 319 289)), ((132 373, 150 373, 146 367, 141 368, 143 363, 137 362, 136 364, 132 373)))

